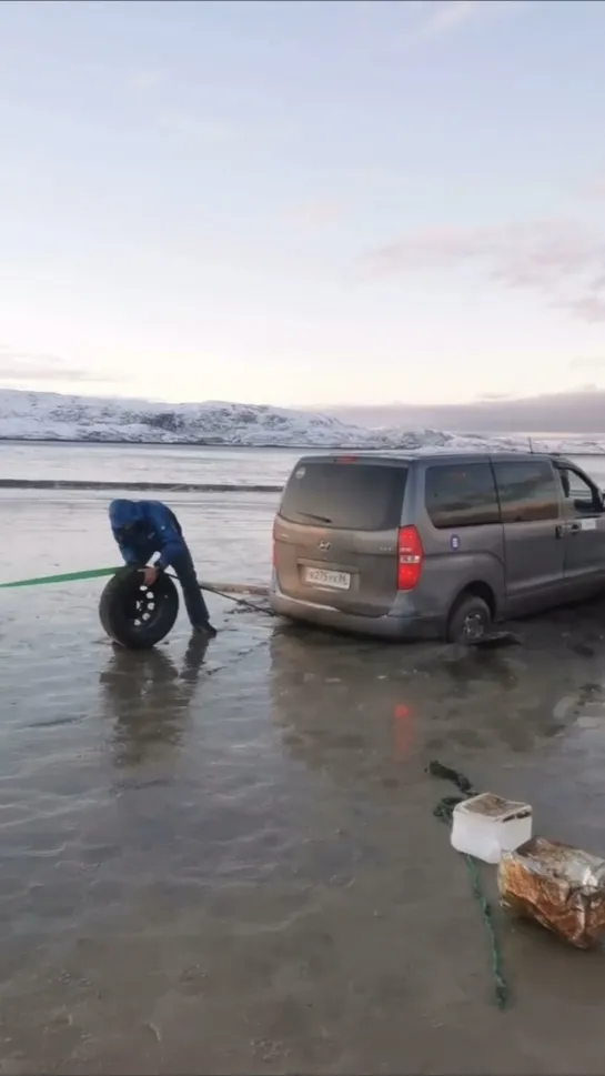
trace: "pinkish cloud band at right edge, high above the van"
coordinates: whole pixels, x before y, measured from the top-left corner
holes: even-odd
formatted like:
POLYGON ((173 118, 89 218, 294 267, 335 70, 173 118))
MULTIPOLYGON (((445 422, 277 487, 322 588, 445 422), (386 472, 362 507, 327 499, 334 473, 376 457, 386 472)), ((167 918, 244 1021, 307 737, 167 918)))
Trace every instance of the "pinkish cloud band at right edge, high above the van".
POLYGON ((433 228, 374 248, 366 278, 471 267, 506 288, 533 290, 583 321, 605 321, 605 238, 573 221, 504 228, 433 228))

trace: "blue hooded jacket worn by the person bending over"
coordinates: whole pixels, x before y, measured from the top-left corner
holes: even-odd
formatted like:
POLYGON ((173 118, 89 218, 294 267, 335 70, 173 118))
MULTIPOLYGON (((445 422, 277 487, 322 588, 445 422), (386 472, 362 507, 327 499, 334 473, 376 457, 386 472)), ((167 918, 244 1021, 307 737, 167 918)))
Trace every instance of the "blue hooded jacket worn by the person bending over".
POLYGON ((179 521, 161 501, 112 501, 109 521, 127 564, 147 564, 154 553, 164 569, 188 552, 179 521))

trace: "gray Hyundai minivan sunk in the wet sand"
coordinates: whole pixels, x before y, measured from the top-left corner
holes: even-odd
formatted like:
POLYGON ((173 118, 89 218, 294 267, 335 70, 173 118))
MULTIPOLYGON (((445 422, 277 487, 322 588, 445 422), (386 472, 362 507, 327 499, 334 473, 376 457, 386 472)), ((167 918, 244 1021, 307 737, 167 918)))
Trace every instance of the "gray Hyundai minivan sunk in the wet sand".
POLYGON ((472 641, 601 589, 604 496, 562 456, 305 456, 273 527, 272 609, 325 627, 472 641))

